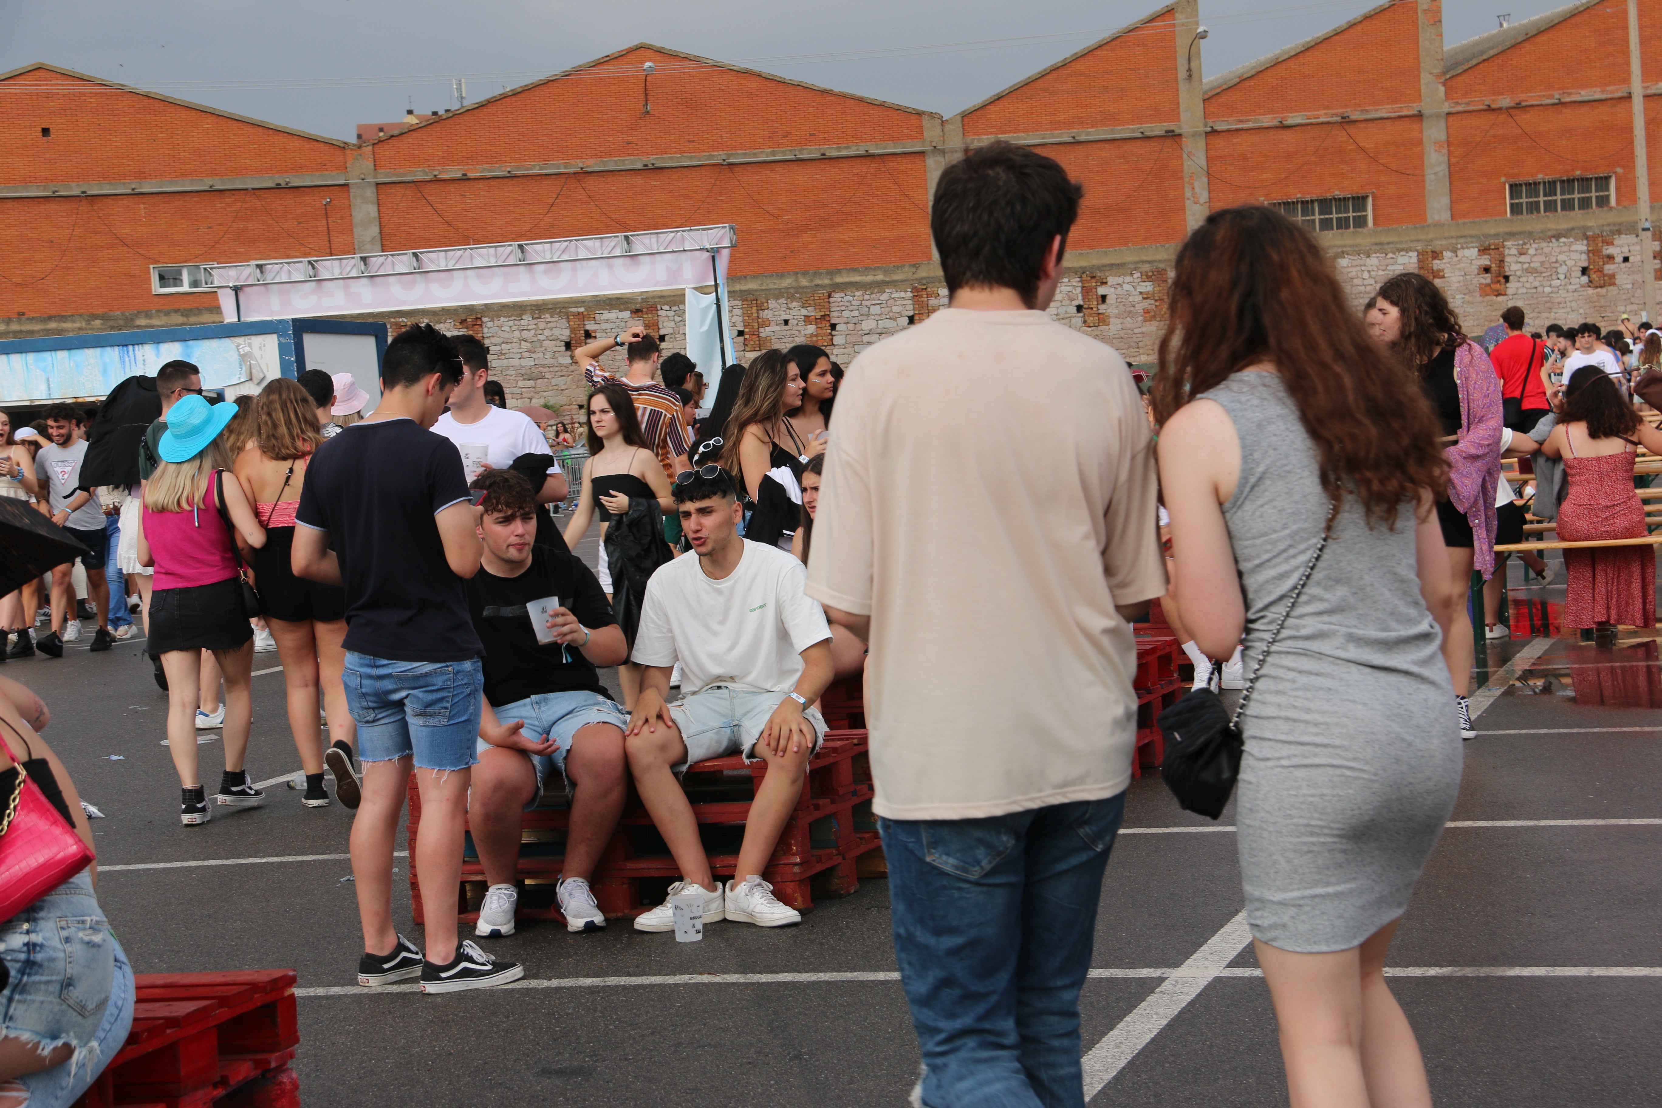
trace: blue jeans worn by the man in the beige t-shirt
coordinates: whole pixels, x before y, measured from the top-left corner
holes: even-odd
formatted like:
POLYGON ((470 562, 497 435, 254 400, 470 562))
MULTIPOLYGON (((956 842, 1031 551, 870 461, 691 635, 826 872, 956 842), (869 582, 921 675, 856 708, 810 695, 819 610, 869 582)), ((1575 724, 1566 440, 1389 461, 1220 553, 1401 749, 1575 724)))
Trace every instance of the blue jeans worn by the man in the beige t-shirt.
POLYGON ((884 819, 926 1108, 1084 1108, 1079 990, 1125 794, 991 819, 884 819))

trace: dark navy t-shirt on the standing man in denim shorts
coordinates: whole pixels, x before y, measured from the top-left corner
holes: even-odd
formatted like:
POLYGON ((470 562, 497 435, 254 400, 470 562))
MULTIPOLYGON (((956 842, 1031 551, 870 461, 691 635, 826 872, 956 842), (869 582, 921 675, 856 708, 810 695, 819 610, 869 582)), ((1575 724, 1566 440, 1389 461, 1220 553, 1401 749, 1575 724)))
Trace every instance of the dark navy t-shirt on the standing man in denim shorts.
POLYGON ((346 583, 346 648, 389 661, 479 658, 462 578, 434 517, 469 498, 462 455, 411 419, 352 424, 306 467, 301 527, 329 532, 346 583))

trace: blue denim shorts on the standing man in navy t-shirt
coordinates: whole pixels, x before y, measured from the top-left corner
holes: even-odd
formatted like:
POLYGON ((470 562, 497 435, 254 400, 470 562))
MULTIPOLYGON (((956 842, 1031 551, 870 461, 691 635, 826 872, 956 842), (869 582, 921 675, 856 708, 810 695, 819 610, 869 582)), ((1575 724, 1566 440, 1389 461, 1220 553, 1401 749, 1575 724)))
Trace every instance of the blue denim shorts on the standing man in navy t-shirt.
POLYGON ((484 669, 467 661, 391 661, 346 651, 346 706, 357 721, 357 757, 387 762, 407 754, 422 769, 467 769, 479 759, 484 669))

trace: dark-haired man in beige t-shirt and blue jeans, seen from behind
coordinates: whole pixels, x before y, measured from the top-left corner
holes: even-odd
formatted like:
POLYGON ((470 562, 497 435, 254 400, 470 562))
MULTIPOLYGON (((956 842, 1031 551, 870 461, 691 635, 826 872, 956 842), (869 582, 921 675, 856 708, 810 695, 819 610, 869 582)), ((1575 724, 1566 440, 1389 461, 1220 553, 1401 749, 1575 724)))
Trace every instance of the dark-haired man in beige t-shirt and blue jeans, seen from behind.
POLYGON ((1079 1100, 1077 995, 1135 748, 1128 620, 1165 591, 1130 370, 1044 312, 1079 196, 1004 143, 942 173, 951 306, 854 359, 814 523, 808 593, 871 643, 931 1108, 1079 1100))

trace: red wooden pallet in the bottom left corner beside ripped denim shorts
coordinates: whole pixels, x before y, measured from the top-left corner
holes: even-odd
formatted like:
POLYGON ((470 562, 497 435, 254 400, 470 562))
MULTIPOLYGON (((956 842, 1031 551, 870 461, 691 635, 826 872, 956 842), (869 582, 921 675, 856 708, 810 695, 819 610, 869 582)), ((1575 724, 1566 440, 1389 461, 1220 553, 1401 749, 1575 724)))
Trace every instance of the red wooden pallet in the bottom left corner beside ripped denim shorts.
POLYGON ((133 1030, 78 1108, 299 1108, 294 970, 138 973, 133 1030))

